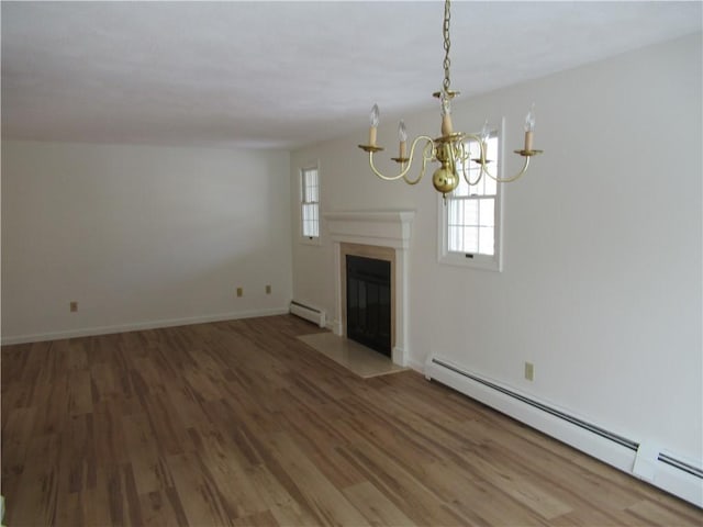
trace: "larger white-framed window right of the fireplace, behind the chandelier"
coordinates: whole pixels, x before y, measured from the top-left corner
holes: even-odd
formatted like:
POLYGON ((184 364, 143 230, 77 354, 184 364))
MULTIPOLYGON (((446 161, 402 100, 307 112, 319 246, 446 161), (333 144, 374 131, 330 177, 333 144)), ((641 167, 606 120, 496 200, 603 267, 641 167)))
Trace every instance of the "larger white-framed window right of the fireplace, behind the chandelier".
MULTIPOLYGON (((467 142, 467 146, 471 159, 480 157, 476 141, 467 142)), ((499 133, 493 132, 487 143, 486 157, 492 161, 488 169, 496 177, 501 172, 500 152, 499 133)), ((486 175, 478 184, 469 186, 461 167, 457 167, 457 170, 459 186, 439 205, 439 261, 500 271, 502 186, 486 175)), ((470 181, 475 181, 479 172, 480 166, 476 162, 467 167, 470 181)))

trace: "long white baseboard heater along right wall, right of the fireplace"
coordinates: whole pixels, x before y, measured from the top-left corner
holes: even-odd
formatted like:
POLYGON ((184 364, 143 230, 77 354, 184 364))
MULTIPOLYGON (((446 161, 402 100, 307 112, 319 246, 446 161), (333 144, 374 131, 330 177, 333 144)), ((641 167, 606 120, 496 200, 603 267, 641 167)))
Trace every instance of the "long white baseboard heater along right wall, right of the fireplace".
POLYGON ((647 441, 636 441, 545 404, 437 356, 425 377, 491 406, 624 472, 703 507, 703 469, 647 441))

